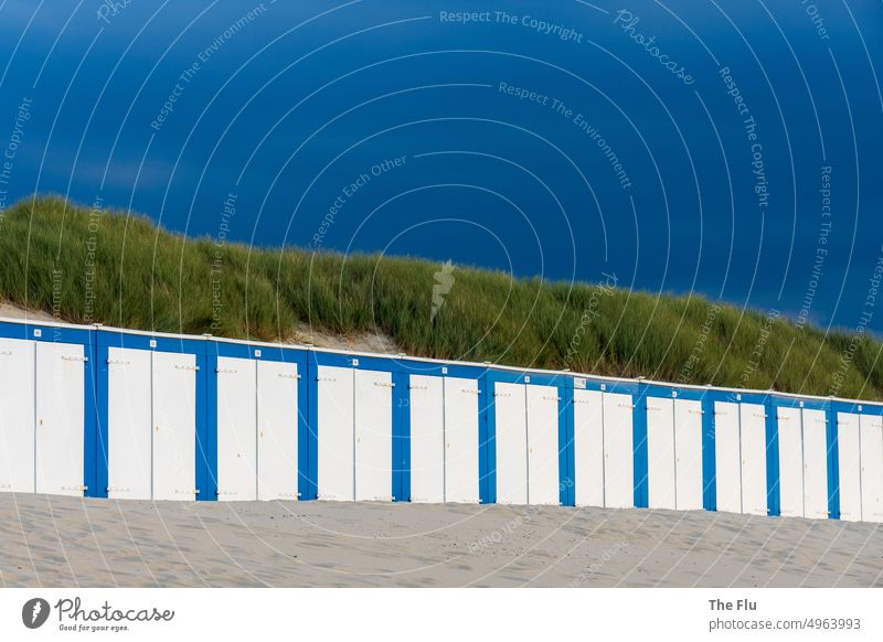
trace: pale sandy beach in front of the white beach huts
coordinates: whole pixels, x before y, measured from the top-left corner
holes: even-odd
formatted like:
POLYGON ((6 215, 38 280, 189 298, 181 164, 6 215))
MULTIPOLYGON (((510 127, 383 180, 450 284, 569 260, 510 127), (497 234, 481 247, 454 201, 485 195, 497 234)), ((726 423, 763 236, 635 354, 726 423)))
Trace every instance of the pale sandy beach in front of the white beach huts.
POLYGON ((870 587, 883 528, 725 513, 0 494, 6 587, 870 587))

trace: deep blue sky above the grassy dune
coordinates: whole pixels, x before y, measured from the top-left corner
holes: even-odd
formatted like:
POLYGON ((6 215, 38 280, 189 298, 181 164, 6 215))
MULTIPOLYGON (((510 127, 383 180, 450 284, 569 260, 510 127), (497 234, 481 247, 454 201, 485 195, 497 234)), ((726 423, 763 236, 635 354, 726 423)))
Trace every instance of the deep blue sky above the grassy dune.
POLYGON ((652 292, 804 308, 823 327, 874 311, 880 0, 118 6, 0 3, 0 146, 31 100, 7 205, 100 199, 196 236, 219 233, 233 193, 230 238, 262 246, 323 231, 328 248, 565 281, 616 274, 652 292), (485 21, 451 21, 458 11, 485 21))

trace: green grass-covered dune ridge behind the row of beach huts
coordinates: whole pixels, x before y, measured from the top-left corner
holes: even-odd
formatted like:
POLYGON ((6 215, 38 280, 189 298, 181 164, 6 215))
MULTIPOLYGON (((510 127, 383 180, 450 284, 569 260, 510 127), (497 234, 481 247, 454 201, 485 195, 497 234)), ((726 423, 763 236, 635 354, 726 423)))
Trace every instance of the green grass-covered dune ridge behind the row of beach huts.
POLYGON ((26 199, 0 220, 0 298, 77 323, 290 340, 382 332, 406 353, 883 399, 881 344, 701 297, 442 264, 184 238, 143 216, 26 199), (214 271, 213 271, 214 269, 214 271), (442 275, 442 276, 437 276, 442 275), (438 297, 437 297, 438 298, 438 297))

